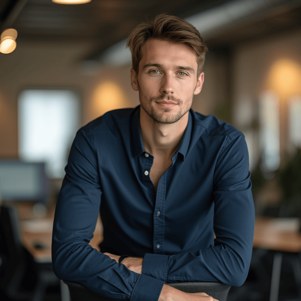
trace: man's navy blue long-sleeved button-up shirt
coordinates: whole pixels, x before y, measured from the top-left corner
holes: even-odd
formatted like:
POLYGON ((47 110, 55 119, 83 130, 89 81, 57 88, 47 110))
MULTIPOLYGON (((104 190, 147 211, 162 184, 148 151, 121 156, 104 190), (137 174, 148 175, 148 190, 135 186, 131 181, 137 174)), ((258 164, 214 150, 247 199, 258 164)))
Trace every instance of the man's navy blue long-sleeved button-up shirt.
POLYGON ((115 300, 157 301, 164 282, 243 284, 255 218, 243 134, 190 110, 156 191, 139 112, 110 111, 77 132, 54 218, 54 272, 115 300), (101 252, 88 244, 99 210, 101 252), (142 274, 102 252, 144 257, 142 274))

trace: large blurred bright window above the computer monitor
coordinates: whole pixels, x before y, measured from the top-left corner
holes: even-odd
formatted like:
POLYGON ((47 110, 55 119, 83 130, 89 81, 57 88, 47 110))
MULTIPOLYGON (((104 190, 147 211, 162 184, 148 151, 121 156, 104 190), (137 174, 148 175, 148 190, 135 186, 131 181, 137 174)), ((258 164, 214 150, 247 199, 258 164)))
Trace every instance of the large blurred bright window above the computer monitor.
POLYGON ((79 127, 79 96, 71 90, 24 90, 18 99, 19 156, 45 162, 50 178, 64 177, 79 127))

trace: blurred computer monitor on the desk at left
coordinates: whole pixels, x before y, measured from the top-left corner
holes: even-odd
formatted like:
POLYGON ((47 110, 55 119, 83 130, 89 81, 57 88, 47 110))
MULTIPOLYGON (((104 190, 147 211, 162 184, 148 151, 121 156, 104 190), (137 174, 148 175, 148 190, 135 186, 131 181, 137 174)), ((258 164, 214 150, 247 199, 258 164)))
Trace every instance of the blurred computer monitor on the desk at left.
POLYGON ((48 200, 44 163, 0 160, 0 195, 3 201, 48 200))

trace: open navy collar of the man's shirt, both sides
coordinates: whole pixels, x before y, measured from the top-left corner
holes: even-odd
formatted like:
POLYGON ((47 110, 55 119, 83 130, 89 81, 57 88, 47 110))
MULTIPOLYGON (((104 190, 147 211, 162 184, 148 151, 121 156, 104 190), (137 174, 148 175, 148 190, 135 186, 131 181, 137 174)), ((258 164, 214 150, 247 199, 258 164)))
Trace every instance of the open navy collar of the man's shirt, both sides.
MULTIPOLYGON (((140 117, 140 106, 135 108, 135 112, 133 114, 133 119, 132 119, 132 141, 133 141, 134 157, 137 157, 138 155, 145 153, 144 145, 141 138, 139 117, 140 117)), ((180 153, 183 155, 183 160, 185 160, 185 156, 188 151, 188 146, 191 138, 191 131, 192 131, 192 114, 189 111, 188 124, 185 129, 185 133, 182 142, 180 144, 180 147, 178 148, 178 151, 176 151, 176 153, 180 153)))

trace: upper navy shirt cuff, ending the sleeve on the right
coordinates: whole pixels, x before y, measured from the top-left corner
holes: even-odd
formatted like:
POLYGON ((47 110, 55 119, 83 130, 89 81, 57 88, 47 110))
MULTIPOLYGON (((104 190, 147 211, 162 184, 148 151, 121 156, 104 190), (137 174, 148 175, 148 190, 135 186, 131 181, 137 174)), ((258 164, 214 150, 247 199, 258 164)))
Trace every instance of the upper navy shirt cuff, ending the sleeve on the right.
POLYGON ((167 281, 167 255, 146 253, 143 258, 142 274, 167 281))

